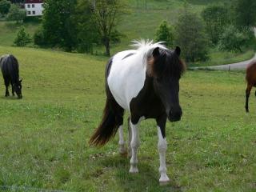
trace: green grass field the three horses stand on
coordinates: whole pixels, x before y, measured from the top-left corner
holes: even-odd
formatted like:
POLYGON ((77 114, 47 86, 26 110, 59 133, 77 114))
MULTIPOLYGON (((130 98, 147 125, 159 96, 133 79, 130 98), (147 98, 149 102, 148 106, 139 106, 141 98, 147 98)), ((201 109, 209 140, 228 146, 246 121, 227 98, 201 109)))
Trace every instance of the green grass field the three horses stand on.
POLYGON ((171 182, 159 186, 154 121, 140 127, 139 174, 128 173, 117 137, 101 149, 88 146, 105 102, 107 58, 0 46, 6 53, 17 56, 24 80, 17 100, 3 97, 0 78, 0 190, 256 190, 256 99, 246 114, 243 73, 182 77, 182 121, 166 128, 171 182))

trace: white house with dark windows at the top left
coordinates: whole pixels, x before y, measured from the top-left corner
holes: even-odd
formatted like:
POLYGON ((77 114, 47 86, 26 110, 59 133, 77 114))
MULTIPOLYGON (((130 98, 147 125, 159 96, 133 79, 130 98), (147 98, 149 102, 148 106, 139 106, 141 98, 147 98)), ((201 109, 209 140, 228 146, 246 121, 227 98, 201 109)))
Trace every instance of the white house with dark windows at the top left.
POLYGON ((26 0, 25 10, 26 16, 42 16, 43 0, 26 0))

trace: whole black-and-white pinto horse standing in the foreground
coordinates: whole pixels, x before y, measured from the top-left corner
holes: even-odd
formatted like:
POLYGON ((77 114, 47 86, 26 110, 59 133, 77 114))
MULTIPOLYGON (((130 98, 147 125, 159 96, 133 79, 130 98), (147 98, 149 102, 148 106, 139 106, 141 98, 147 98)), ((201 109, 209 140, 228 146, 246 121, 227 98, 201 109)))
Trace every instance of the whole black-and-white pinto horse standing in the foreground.
POLYGON ((134 46, 138 50, 119 52, 106 65, 106 106, 90 144, 103 146, 119 130, 119 152, 126 154, 122 124, 124 110, 128 110, 130 173, 137 173, 139 122, 146 118, 156 119, 159 182, 166 183, 170 181, 166 174, 166 120, 175 122, 182 117, 178 92, 185 66, 179 58, 179 47, 171 51, 161 42, 149 41, 135 42, 134 46))

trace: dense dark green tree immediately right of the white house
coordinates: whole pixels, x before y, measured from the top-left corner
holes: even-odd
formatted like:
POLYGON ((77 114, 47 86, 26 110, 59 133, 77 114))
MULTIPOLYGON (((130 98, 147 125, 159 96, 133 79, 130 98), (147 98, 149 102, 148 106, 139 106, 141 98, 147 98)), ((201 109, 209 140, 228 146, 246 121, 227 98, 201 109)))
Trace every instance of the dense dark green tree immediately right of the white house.
POLYGON ((45 0, 42 18, 43 35, 48 46, 61 46, 71 51, 76 44, 71 16, 75 0, 45 0))

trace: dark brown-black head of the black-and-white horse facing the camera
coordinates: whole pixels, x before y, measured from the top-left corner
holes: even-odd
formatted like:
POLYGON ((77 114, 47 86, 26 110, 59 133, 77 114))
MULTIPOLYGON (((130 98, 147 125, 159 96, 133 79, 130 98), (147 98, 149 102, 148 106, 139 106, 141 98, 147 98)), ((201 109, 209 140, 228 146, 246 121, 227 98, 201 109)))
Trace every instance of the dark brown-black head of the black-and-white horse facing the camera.
POLYGON ((171 122, 179 121, 182 108, 179 105, 179 79, 185 66, 179 58, 181 49, 174 51, 155 48, 148 62, 147 74, 154 78, 154 90, 165 107, 166 115, 171 122))

